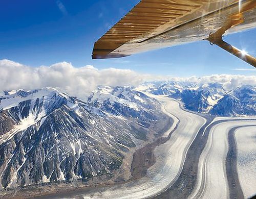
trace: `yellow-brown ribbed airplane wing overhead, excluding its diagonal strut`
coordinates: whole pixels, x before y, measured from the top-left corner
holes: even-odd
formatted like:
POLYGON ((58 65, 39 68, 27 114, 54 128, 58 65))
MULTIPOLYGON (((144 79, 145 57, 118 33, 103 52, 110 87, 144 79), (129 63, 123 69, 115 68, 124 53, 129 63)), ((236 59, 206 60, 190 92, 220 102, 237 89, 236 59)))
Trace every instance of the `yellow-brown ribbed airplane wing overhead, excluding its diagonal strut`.
POLYGON ((223 34, 254 28, 255 8, 255 0, 141 0, 95 42, 92 58, 125 57, 209 40, 210 34, 225 27, 223 34))

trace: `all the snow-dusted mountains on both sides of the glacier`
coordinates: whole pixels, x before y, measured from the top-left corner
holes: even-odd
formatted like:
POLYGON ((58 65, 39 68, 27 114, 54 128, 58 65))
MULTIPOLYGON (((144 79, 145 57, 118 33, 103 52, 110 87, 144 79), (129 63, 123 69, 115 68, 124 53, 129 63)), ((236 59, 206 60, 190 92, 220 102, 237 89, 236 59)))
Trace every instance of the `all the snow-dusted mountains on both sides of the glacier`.
POLYGON ((164 130, 166 95, 215 116, 256 115, 256 87, 146 83, 99 87, 81 101, 54 88, 0 92, 0 189, 114 176, 132 147, 164 130))

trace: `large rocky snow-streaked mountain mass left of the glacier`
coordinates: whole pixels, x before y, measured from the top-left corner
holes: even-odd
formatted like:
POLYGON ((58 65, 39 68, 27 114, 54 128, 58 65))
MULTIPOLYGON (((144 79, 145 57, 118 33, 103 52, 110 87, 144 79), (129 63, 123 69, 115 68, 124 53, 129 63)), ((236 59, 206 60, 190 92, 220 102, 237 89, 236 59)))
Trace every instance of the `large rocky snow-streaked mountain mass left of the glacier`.
POLYGON ((139 95, 119 93, 99 104, 95 96, 85 103, 50 88, 5 91, 0 97, 0 187, 112 174, 161 117, 159 104, 139 95))

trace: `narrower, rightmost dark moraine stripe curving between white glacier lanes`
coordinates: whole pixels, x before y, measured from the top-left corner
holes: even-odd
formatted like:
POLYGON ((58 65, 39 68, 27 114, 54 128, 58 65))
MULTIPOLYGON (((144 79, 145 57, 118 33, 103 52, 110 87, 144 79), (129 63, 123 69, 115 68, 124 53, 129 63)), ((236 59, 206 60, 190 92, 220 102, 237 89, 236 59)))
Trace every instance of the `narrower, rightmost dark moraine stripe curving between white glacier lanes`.
POLYGON ((240 126, 230 129, 228 132, 228 153, 226 158, 226 173, 229 187, 229 198, 244 198, 244 194, 238 178, 237 170, 237 142, 235 131, 244 127, 256 127, 255 125, 240 126))

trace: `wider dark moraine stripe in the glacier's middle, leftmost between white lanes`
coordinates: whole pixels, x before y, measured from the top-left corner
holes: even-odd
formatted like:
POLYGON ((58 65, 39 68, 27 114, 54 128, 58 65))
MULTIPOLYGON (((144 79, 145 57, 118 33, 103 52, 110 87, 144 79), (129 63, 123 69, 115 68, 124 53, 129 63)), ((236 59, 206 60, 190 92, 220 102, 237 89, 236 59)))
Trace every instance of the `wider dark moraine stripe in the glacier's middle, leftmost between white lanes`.
POLYGON ((205 125, 199 130, 195 140, 188 148, 182 170, 180 172, 180 175, 177 177, 176 181, 170 184, 165 191, 158 195, 153 196, 152 198, 187 198, 193 192, 196 186, 199 158, 207 143, 210 129, 222 122, 255 120, 225 119, 212 122, 209 125, 213 118, 206 117, 206 119, 207 121, 205 125))

